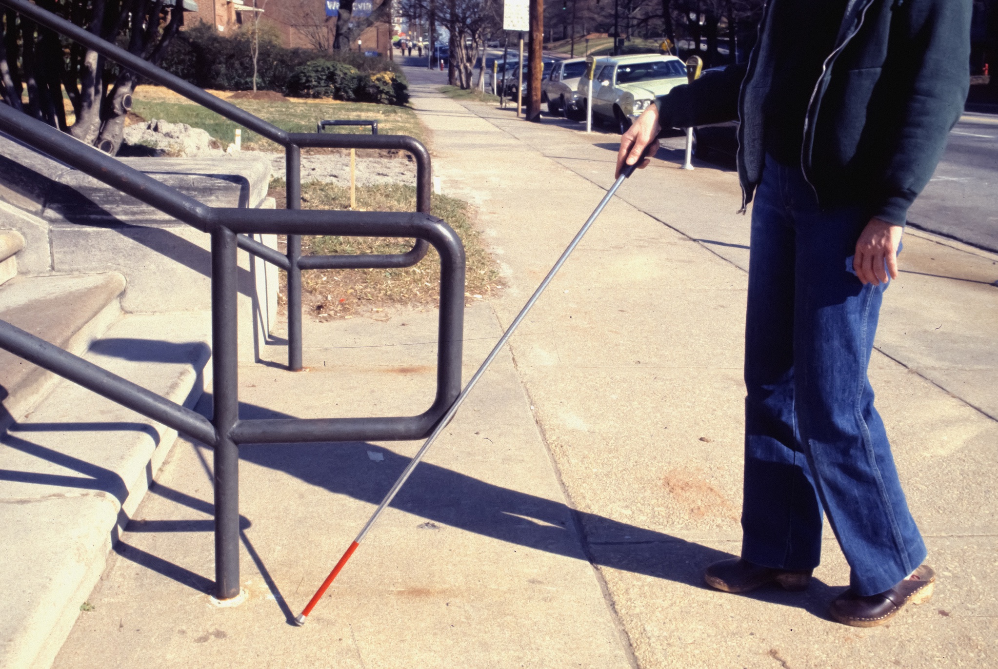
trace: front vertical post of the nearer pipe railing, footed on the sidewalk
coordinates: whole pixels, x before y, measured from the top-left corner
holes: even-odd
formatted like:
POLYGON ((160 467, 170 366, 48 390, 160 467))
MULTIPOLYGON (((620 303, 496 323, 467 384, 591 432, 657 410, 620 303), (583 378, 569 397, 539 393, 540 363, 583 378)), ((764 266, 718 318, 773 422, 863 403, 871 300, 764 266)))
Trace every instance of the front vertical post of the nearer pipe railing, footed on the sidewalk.
POLYGON ((212 363, 215 446, 215 597, 240 594, 240 452, 229 436, 239 419, 239 274, 236 233, 212 232, 212 363))

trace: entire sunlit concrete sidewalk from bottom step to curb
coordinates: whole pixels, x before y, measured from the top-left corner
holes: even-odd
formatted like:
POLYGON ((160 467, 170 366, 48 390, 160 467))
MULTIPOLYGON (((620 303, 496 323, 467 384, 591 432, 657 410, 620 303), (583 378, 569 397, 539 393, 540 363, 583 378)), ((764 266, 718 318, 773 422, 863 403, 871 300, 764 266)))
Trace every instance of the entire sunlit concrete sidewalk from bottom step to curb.
MULTIPOLYGON (((467 311, 467 379, 599 201, 617 138, 458 104, 436 94, 439 73, 409 79, 434 173, 478 206, 508 283, 467 311)), ((940 574, 933 600, 881 628, 831 622, 848 571, 830 531, 806 593, 713 591, 704 566, 740 548, 748 219, 734 174, 661 156, 607 207, 307 626, 287 620, 418 444, 243 449, 250 599, 232 609, 206 594, 211 453, 179 445, 56 666, 992 666, 995 258, 911 236, 904 261, 937 264, 888 291, 871 364, 940 574), (940 318, 951 339, 926 332, 940 318)), ((309 324, 308 373, 279 369, 281 347, 241 369, 244 415, 422 411, 435 319, 309 324)))

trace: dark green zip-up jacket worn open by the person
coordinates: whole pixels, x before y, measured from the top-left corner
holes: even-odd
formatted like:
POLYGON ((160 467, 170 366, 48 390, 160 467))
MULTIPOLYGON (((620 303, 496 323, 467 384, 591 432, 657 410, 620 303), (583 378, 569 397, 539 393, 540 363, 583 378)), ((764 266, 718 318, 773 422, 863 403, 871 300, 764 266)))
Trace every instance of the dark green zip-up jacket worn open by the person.
MULTIPOLYGON (((773 78, 769 0, 748 63, 659 98, 663 128, 738 119, 743 209, 764 162, 762 103, 773 78)), ((903 225, 960 118, 970 86, 971 0, 849 0, 813 86, 800 167, 822 207, 859 203, 903 225)))

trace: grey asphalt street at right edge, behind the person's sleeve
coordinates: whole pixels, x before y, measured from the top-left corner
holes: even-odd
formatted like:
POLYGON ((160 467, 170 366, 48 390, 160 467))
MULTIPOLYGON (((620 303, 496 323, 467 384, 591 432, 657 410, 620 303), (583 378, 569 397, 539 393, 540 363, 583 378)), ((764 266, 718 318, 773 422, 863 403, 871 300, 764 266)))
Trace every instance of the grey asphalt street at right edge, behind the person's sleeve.
POLYGON ((967 114, 908 222, 998 251, 998 115, 967 114))

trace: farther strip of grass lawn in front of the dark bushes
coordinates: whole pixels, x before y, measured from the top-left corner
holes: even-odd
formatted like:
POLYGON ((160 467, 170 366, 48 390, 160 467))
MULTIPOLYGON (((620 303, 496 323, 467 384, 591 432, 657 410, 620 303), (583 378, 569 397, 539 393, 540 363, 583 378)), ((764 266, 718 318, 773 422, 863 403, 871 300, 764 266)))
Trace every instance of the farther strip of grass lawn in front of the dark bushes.
MULTIPOLYGON (((210 91, 220 98, 231 92, 210 91)), ((333 100, 305 100, 288 98, 286 102, 258 100, 230 100, 229 102, 250 114, 292 133, 314 133, 315 124, 324 120, 376 120, 378 133, 383 135, 409 135, 423 141, 423 130, 415 112, 407 107, 375 105, 371 103, 341 103, 333 100)), ((202 128, 222 143, 223 147, 235 141, 240 126, 215 112, 188 101, 173 91, 159 86, 140 86, 135 93, 132 112, 147 121, 161 119, 168 123, 186 123, 202 128)), ((369 133, 366 128, 326 129, 325 132, 369 133)), ((243 129, 243 147, 258 151, 278 151, 279 147, 259 135, 243 129)))

